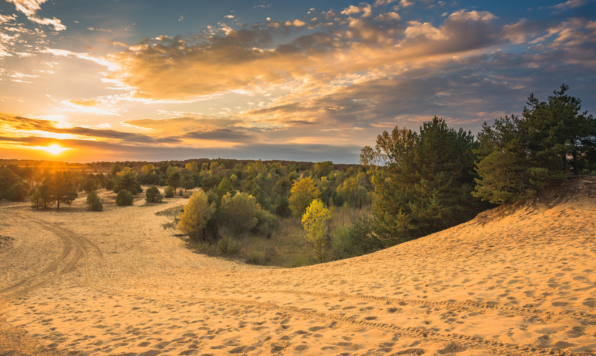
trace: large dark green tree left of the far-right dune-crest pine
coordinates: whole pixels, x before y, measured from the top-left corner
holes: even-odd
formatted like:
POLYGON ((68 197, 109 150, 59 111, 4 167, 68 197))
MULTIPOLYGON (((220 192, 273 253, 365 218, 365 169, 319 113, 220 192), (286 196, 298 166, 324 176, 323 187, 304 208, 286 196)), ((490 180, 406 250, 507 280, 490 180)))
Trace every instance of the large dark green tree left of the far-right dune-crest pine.
POLYGON ((374 185, 374 230, 387 245, 402 243, 473 218, 476 146, 470 132, 436 116, 419 133, 394 128, 362 149, 361 163, 374 185))

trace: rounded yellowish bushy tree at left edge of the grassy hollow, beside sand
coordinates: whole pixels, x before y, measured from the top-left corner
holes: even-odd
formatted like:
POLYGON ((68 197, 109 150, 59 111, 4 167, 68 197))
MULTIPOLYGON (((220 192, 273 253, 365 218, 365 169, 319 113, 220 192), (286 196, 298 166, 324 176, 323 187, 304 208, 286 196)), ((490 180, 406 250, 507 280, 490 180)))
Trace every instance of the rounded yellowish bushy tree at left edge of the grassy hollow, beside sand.
POLYGON ((215 203, 209 204, 207 195, 202 190, 194 192, 184 205, 184 212, 179 215, 178 229, 194 240, 202 238, 215 210, 215 203))

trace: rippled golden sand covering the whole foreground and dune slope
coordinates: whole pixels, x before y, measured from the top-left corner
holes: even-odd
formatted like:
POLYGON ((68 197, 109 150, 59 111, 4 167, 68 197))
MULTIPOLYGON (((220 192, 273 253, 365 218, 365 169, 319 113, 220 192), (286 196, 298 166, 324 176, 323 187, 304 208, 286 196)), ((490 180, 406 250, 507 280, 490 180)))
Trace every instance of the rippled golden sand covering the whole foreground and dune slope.
POLYGON ((307 268, 197 255, 182 205, 0 204, 0 355, 595 355, 596 182, 307 268))

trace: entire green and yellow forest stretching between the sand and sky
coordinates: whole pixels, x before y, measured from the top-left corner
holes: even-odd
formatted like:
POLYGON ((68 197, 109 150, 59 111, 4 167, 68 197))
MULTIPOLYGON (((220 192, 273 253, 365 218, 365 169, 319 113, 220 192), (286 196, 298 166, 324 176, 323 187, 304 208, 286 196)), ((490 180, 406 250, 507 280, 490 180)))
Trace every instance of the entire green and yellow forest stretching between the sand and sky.
POLYGON ((59 209, 84 191, 89 210, 99 211, 100 189, 124 206, 135 196, 158 204, 200 187, 176 216, 199 252, 288 267, 349 258, 465 223, 561 180, 595 175, 596 121, 568 89, 562 85, 547 101, 532 94, 521 116, 484 123, 476 136, 436 116, 419 131, 384 131, 374 148, 362 148, 360 165, 204 158, 116 162, 104 173, 86 173, 10 164, 0 166, 0 198, 59 209), (280 236, 289 247, 267 243, 280 236), (282 251, 295 250, 292 244, 308 252, 282 251))

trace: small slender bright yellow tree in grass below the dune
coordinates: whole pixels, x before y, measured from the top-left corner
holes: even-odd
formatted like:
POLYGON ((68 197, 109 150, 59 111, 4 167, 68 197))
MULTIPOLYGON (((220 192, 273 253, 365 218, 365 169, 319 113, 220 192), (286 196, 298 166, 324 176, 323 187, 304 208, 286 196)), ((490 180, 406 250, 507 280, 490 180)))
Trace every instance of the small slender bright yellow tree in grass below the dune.
POLYGON ((329 219, 331 219, 331 213, 320 199, 312 200, 302 215, 302 226, 307 230, 307 240, 314 244, 314 253, 320 262, 324 261, 329 244, 329 219))

